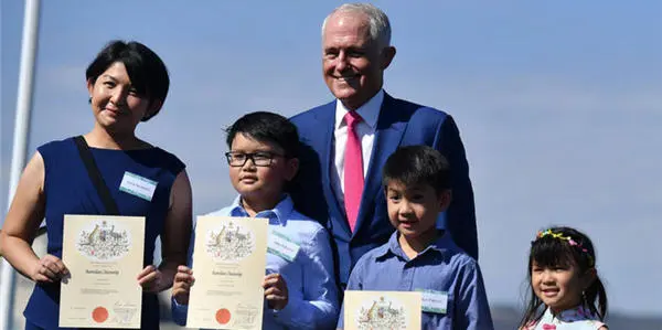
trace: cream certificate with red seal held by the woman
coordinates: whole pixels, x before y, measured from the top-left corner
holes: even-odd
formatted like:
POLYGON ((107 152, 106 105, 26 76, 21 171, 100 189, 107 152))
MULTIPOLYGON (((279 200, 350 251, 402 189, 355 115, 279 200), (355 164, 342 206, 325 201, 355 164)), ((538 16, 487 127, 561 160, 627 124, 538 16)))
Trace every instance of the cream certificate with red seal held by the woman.
POLYGON ((140 328, 145 217, 65 215, 60 327, 140 328))

